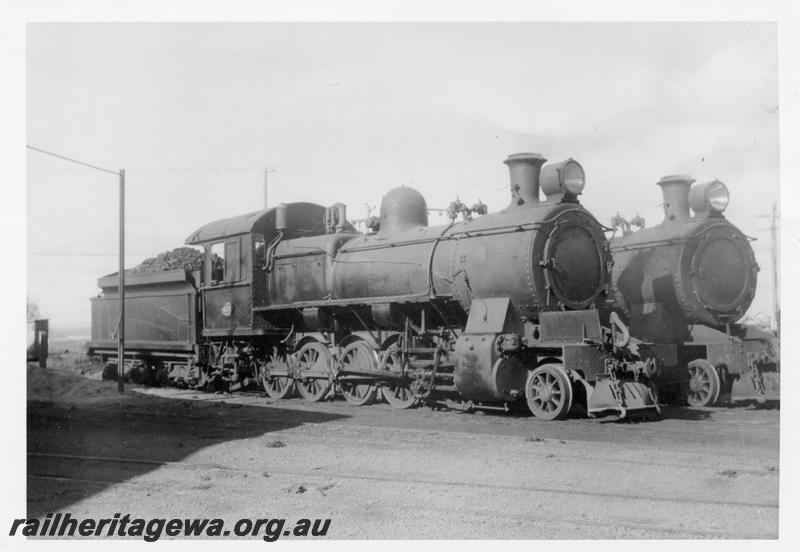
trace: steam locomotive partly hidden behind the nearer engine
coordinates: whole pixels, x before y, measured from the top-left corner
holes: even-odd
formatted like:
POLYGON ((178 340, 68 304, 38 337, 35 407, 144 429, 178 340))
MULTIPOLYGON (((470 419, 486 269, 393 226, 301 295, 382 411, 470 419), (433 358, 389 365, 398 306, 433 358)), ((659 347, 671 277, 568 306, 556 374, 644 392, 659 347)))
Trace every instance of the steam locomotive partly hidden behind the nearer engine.
POLYGON ((614 297, 606 308, 622 313, 645 342, 639 352, 656 359, 662 396, 692 406, 778 399, 775 336, 736 323, 756 289, 750 239, 723 215, 725 184, 694 182, 680 175, 658 182, 664 220, 656 226, 612 220, 623 235, 610 241, 614 297))

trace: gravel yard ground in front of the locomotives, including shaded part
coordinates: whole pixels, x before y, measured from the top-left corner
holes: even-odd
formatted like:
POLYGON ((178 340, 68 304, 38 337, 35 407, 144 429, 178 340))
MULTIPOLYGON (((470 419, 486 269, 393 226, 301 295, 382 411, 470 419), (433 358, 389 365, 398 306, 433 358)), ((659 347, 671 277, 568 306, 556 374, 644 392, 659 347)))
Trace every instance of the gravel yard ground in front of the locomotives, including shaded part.
MULTIPOLYGON (((92 372, 92 370, 84 370, 92 372)), ((658 421, 203 394, 28 368, 28 514, 330 518, 336 539, 778 537, 779 410, 658 421)))

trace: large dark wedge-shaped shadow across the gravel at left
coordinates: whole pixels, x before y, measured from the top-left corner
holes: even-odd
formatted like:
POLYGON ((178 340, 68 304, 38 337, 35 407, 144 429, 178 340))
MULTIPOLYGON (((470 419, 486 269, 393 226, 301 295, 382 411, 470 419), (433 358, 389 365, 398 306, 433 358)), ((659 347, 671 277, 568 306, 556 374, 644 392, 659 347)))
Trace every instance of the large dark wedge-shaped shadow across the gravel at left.
MULTIPOLYGON (((42 372, 36 377, 41 379, 42 372)), ((267 436, 265 447, 280 447, 270 433, 347 417, 287 410, 266 400, 263 406, 244 406, 117 395, 114 383, 54 372, 47 378, 54 388, 79 386, 83 396, 72 392, 51 399, 45 394, 44 400, 28 401, 29 518, 64 509, 209 446, 267 436)))

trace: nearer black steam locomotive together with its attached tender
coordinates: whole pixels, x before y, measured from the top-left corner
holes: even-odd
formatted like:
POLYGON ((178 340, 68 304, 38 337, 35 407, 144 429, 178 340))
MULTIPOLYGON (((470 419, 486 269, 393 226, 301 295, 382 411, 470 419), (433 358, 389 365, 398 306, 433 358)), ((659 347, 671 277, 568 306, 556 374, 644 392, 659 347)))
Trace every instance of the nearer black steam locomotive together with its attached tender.
MULTIPOLYGON (((281 204, 201 227, 186 243, 203 247, 202 272, 129 279, 128 371, 230 390, 258 381, 273 398, 382 395, 397 408, 658 412, 652 363, 627 349, 616 317, 601 325, 612 262, 603 226, 578 202, 583 168, 545 162, 509 156, 508 207, 476 218, 461 209, 464 220, 453 213, 442 226, 400 187, 366 234, 341 204, 281 204)), ((99 281, 89 345, 111 362, 115 282, 99 281)))

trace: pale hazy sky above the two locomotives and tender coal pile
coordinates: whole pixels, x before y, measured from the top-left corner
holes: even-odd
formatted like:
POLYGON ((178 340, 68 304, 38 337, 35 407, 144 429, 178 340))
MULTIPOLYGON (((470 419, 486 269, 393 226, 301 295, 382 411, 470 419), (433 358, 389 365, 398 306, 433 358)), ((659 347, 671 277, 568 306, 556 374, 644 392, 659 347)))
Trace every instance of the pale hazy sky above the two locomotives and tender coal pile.
MULTIPOLYGON (((720 179, 771 311, 775 23, 29 23, 27 143, 126 170, 126 266, 268 202, 365 215, 508 204, 511 153, 584 167, 583 204, 661 221, 664 175, 720 179)), ((27 293, 86 324, 117 269, 117 178, 27 152, 27 293)), ((432 224, 444 223, 435 214, 432 224)))

